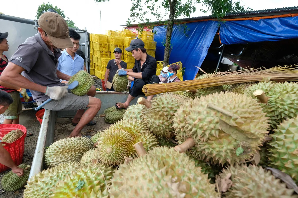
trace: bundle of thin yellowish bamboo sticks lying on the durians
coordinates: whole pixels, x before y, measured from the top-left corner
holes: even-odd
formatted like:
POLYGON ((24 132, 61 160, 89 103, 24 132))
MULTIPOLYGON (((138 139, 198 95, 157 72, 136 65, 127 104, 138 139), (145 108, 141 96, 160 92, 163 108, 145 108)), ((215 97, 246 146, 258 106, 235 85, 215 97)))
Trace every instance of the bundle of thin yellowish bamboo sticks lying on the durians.
POLYGON ((241 69, 234 72, 218 72, 200 80, 187 80, 177 83, 148 84, 142 91, 146 96, 172 91, 186 91, 200 88, 248 83, 258 81, 298 81, 298 65, 275 66, 269 69, 241 69))

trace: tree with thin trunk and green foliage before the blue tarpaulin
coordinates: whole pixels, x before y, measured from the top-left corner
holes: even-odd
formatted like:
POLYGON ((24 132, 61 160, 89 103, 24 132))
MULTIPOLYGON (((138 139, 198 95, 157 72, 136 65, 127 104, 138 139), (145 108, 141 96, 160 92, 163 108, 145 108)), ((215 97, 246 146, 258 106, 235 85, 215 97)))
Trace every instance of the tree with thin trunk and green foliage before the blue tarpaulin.
MULTIPOLYGON (((109 0, 94 0, 95 2, 105 2, 109 0)), ((180 16, 190 17, 190 14, 195 12, 196 6, 202 4, 207 7, 212 14, 212 17, 222 20, 227 13, 245 11, 244 7, 240 6, 240 2, 233 3, 232 0, 131 0, 132 7, 130 10, 130 18, 127 23, 138 23, 139 28, 151 24, 151 18, 154 16, 159 23, 162 23, 164 18, 168 18, 166 25, 166 39, 164 41, 164 66, 169 64, 171 37, 174 23, 180 16)), ((249 8, 248 8, 249 9, 249 8)), ((201 10, 207 12, 206 10, 201 10)), ((180 25, 180 24, 179 24, 180 25)), ((181 29, 186 33, 187 26, 183 25, 181 29)), ((186 35, 187 36, 187 35, 186 35)))

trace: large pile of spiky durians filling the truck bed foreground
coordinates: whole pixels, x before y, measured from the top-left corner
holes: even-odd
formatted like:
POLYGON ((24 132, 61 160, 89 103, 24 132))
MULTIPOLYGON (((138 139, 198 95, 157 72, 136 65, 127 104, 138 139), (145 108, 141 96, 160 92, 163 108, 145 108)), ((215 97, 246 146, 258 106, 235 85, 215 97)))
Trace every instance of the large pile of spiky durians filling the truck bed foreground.
POLYGON ((297 97, 259 82, 111 107, 108 129, 46 149, 24 197, 298 197, 297 97))

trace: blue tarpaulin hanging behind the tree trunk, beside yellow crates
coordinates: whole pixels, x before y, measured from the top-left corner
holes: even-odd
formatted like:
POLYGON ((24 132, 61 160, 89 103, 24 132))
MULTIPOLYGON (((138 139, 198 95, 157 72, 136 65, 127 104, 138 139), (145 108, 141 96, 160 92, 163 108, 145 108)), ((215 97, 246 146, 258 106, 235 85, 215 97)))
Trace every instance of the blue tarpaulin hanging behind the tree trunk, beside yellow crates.
MULTIPOLYGON (((183 80, 193 80, 198 73, 198 69, 204 61, 213 37, 218 29, 217 21, 201 21, 186 23, 187 36, 183 32, 182 25, 173 27, 171 44, 173 46, 170 52, 169 63, 181 61, 185 67, 183 80)), ((166 36, 166 26, 155 26, 156 31, 154 41, 157 42, 155 58, 157 61, 164 60, 164 46, 166 36)))

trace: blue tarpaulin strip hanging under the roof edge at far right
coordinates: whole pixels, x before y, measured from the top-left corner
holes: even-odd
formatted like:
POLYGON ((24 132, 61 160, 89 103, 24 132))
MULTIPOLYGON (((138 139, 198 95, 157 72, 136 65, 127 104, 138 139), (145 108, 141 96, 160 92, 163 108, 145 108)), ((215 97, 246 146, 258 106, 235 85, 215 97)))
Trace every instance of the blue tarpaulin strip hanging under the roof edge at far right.
POLYGON ((221 23, 219 35, 222 44, 297 39, 298 16, 226 21, 225 23, 221 23))

